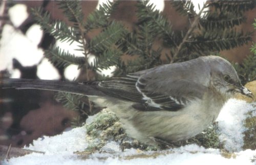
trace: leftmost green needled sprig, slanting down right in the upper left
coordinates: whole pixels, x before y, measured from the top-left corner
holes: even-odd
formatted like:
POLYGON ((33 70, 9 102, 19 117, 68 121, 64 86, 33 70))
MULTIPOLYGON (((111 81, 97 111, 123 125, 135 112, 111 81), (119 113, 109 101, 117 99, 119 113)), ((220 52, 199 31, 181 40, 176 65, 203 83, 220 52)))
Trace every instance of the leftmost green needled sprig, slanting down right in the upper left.
POLYGON ((32 8, 31 14, 40 24, 41 28, 53 35, 56 39, 59 39, 60 41, 77 41, 78 43, 81 43, 74 29, 68 28, 66 23, 61 21, 50 22, 49 12, 44 12, 42 8, 32 8))

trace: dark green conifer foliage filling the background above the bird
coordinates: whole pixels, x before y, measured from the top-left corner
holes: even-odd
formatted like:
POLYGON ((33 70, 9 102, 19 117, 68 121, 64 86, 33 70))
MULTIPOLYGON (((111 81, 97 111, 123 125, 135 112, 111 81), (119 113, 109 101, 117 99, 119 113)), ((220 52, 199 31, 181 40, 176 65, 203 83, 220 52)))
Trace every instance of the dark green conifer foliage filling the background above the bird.
MULTIPOLYGON (((84 21, 80 3, 58 2, 63 14, 73 23, 72 27, 62 21, 52 21, 50 14, 41 8, 32 10, 34 18, 45 32, 61 41, 78 42, 78 50, 84 54, 84 57, 76 57, 52 45, 45 51, 45 57, 57 66, 76 64, 87 72, 114 65, 117 67, 115 76, 164 63, 207 56, 243 45, 251 40, 251 34, 244 34, 236 29, 236 26, 245 21, 244 12, 255 6, 255 1, 209 1, 196 12, 194 4, 190 1, 170 1, 169 3, 180 14, 187 16, 190 22, 187 29, 174 32, 172 22, 155 10, 155 6, 148 1, 137 2, 138 22, 132 31, 126 29, 121 22, 111 19, 111 14, 120 2, 101 5, 88 16, 87 21, 84 21), (93 30, 100 30, 100 33, 87 41, 86 36, 93 30), (170 53, 165 54, 166 57, 160 58, 163 56, 163 47, 153 48, 156 41, 169 48, 170 53), (93 65, 88 63, 91 53, 97 57, 93 65), (136 58, 124 62, 124 54, 136 58)), ((99 78, 100 76, 96 77, 99 78)), ((64 99, 63 96, 65 95, 61 96, 61 100, 64 99)), ((67 101, 64 102, 67 104, 67 101)))

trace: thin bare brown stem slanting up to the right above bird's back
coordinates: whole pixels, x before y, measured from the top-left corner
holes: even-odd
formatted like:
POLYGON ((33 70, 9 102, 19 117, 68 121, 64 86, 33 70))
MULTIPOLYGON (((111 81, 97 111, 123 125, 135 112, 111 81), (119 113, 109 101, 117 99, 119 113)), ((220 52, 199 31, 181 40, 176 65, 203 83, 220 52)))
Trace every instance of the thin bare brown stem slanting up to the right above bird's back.
POLYGON ((195 17, 193 23, 191 24, 190 28, 188 29, 186 35, 184 36, 182 42, 179 44, 179 46, 178 46, 178 48, 177 48, 177 50, 176 50, 174 56, 173 56, 172 59, 170 60, 170 63, 173 63, 173 62, 176 60, 176 58, 177 58, 177 56, 178 56, 180 50, 182 49, 183 45, 185 45, 185 43, 187 42, 187 40, 189 39, 189 37, 191 36, 191 34, 192 34, 193 31, 195 30, 195 28, 198 26, 198 23, 199 23, 199 21, 200 21, 200 16, 201 16, 203 10, 204 10, 206 7, 207 7, 207 5, 204 4, 204 6, 202 7, 202 9, 199 11, 198 15, 195 17))

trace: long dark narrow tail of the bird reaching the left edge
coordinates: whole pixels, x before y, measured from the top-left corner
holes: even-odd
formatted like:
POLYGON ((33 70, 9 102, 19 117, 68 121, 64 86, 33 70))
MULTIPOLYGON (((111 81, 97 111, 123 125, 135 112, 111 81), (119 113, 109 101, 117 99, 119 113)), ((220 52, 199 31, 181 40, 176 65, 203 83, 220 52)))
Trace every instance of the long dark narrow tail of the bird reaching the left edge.
POLYGON ((93 88, 92 85, 78 84, 77 82, 43 80, 43 79, 0 79, 0 88, 37 89, 47 91, 68 92, 87 96, 105 96, 104 93, 93 88))

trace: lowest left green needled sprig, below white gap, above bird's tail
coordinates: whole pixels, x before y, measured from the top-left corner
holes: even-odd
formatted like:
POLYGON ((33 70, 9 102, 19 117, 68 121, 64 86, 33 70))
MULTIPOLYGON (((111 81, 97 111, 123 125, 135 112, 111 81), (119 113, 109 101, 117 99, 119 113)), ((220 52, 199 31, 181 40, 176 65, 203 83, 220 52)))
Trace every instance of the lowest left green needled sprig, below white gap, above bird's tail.
POLYGON ((62 66, 64 68, 71 64, 78 65, 78 68, 80 68, 86 62, 84 57, 75 57, 74 54, 71 55, 69 52, 61 51, 59 47, 53 48, 52 46, 45 50, 45 57, 57 67, 62 66))

